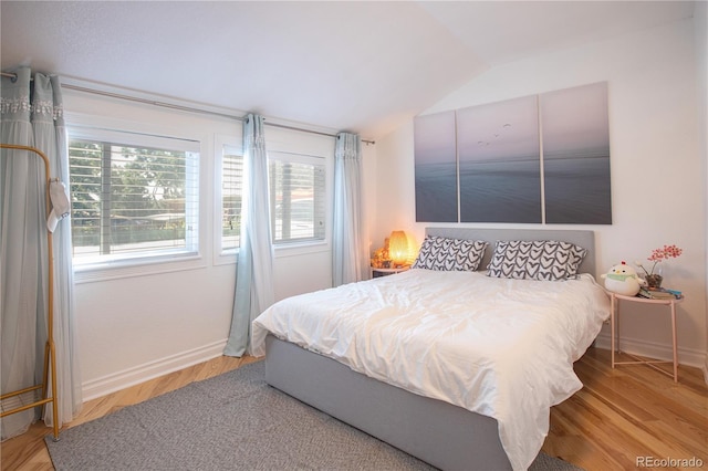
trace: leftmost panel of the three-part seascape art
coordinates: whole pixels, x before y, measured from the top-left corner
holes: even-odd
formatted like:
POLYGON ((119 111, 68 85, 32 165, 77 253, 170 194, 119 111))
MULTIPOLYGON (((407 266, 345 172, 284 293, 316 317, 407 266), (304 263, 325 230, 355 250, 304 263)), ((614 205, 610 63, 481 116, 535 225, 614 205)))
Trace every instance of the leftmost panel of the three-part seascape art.
POLYGON ((457 222, 455 112, 418 116, 414 126, 416 221, 457 222))

